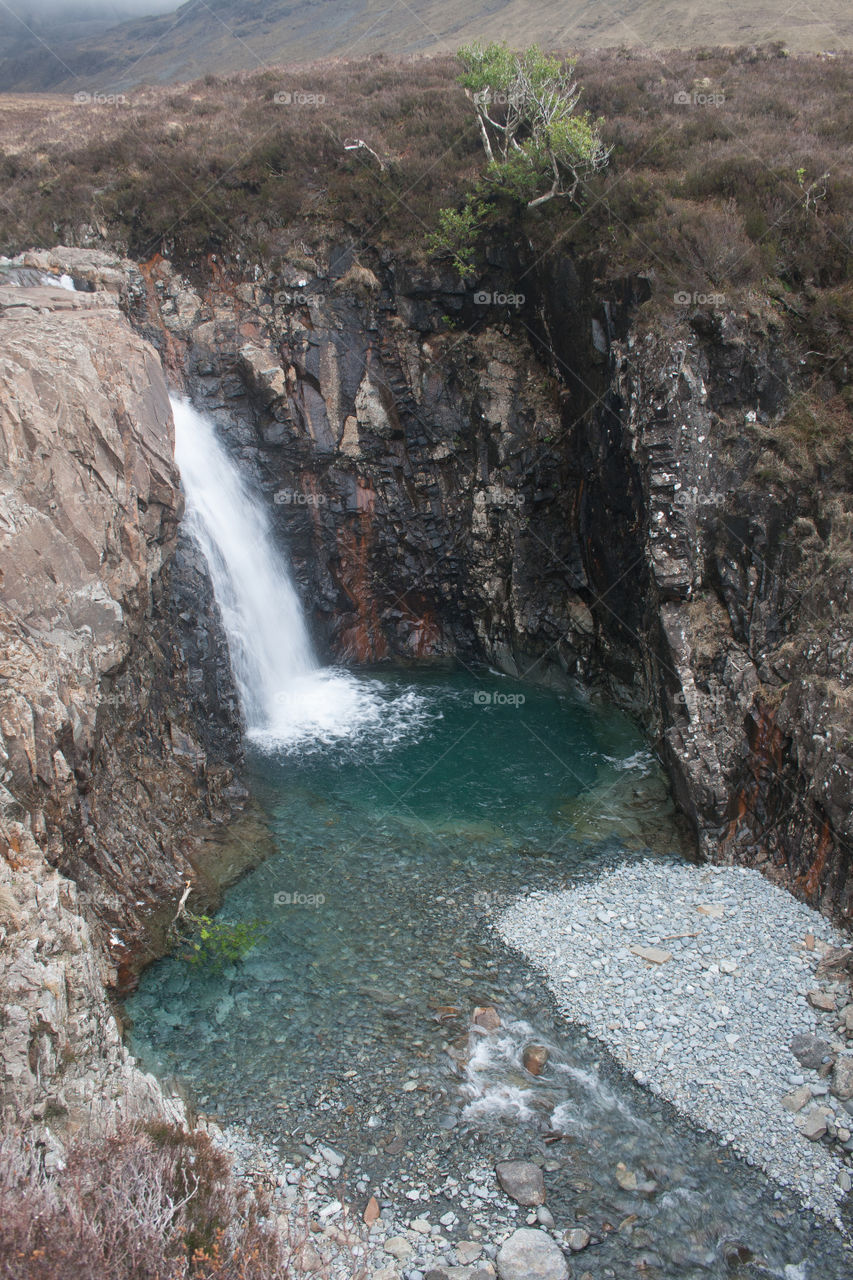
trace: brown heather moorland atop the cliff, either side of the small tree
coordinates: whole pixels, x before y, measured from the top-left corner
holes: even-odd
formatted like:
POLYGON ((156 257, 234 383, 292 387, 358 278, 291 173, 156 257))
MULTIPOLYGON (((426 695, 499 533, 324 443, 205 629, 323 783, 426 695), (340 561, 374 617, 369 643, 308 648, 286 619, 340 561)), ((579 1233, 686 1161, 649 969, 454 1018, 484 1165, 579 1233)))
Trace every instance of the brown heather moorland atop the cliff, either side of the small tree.
MULTIPOLYGON (((651 271, 663 289, 838 288, 853 237, 850 65, 774 49, 584 55, 610 169, 580 216, 555 201, 521 224, 498 207, 494 234, 592 255, 601 274, 651 271)), ((0 248, 101 237, 137 259, 270 264, 300 239, 345 234, 423 259, 438 210, 482 172, 457 74, 448 56, 377 55, 209 76, 126 104, 0 99, 0 248), (345 150, 352 138, 386 169, 345 150)))

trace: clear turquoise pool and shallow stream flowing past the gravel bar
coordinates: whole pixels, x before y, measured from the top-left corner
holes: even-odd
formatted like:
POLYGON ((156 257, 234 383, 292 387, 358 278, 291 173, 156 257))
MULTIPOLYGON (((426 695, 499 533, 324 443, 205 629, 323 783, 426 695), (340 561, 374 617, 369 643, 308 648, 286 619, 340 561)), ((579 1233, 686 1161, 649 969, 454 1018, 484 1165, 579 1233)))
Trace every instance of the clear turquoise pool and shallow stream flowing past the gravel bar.
POLYGON ((146 1066, 291 1158, 320 1138, 391 1198, 546 1158, 557 1222, 603 1238, 579 1268, 594 1277, 849 1275, 831 1229, 626 1080, 488 927, 526 888, 684 855, 634 726, 488 675, 346 678, 374 708, 355 741, 254 746, 278 852, 223 915, 265 938, 224 974, 146 972, 128 1005, 146 1066), (501 1028, 471 1028, 482 1005, 501 1028), (549 1050, 538 1078, 529 1042, 549 1050))

